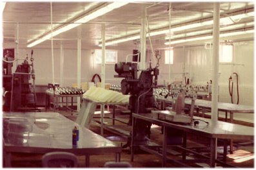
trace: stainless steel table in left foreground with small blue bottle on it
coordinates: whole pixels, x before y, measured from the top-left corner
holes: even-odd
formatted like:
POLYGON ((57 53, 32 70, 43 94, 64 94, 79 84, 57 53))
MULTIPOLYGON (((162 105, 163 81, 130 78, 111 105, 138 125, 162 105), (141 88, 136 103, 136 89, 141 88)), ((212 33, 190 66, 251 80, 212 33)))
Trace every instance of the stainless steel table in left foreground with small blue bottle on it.
POLYGON ((11 166, 11 153, 66 151, 85 155, 86 167, 90 155, 115 153, 115 161, 121 156, 120 146, 55 112, 4 113, 3 150, 6 167, 11 166), (79 128, 77 146, 72 146, 74 126, 79 128))

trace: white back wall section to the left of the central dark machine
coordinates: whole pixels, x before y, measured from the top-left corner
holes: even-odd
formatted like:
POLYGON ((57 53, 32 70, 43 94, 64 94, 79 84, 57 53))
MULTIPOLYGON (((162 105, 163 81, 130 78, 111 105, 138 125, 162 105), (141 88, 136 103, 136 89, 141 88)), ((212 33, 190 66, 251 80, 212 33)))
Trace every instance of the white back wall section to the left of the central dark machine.
MULTIPOLYGON (((64 69, 63 86, 71 86, 77 82, 77 49, 63 49, 64 69)), ((118 51, 118 60, 125 61, 125 56, 132 52, 128 50, 118 51)), ((19 57, 30 57, 30 49, 19 49, 19 57)), ((60 49, 54 49, 54 72, 55 82, 60 82, 60 49)), ((81 51, 81 82, 91 81, 95 73, 101 75, 101 64, 94 64, 93 50, 81 51)), ((22 61, 19 62, 21 64, 22 61)), ((13 69, 15 70, 15 64, 13 69)), ((34 49, 35 83, 47 85, 52 82, 52 52, 51 49, 34 49)), ((114 64, 106 64, 106 83, 120 83, 120 78, 113 78, 115 73, 114 64)), ((98 81, 98 80, 95 80, 98 81)))

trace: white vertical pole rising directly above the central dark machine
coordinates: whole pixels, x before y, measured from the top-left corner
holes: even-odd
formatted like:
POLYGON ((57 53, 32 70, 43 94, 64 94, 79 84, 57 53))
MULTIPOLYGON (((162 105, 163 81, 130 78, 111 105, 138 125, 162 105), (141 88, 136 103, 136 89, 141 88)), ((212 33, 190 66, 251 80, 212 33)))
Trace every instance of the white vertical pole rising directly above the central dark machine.
POLYGON ((141 62, 140 69, 146 69, 146 12, 141 15, 141 62))

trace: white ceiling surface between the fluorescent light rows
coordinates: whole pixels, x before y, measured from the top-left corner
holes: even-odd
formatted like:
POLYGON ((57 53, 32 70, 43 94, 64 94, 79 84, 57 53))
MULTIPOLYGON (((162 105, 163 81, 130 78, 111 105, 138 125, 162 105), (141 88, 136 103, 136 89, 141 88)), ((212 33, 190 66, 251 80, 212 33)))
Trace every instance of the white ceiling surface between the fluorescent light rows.
MULTIPOLYGON (((68 23, 75 16, 79 16, 83 13, 90 12, 90 10, 103 4, 103 2, 77 2, 77 3, 52 3, 52 20, 53 27, 63 23, 68 23)), ((81 30, 82 47, 83 48, 95 48, 98 47, 101 40, 101 26, 105 23, 106 28, 106 40, 112 38, 123 37, 131 34, 140 33, 141 29, 141 15, 145 7, 148 8, 148 22, 150 30, 164 28, 169 26, 168 6, 171 4, 171 23, 172 26, 176 24, 182 24, 189 21, 195 21, 206 17, 213 16, 213 3, 129 3, 121 8, 117 8, 112 12, 106 13, 101 17, 98 17, 86 24, 82 24, 77 28, 66 31, 57 35, 54 38, 54 47, 59 47, 59 44, 64 44, 64 47, 76 48, 77 35, 81 30)), ((245 10, 254 8, 253 3, 221 3, 221 14, 237 12, 239 10, 245 10)), ((241 22, 251 22, 254 17, 242 19, 241 22)), ((253 24, 254 26, 254 24, 253 24)), ((205 30, 206 28, 212 28, 212 26, 206 26, 200 28, 205 30)), ((51 30, 51 12, 50 2, 33 3, 33 2, 7 2, 3 11, 3 46, 15 47, 19 42, 19 47, 26 47, 27 42, 39 37, 43 33, 51 30)), ((195 30, 195 29, 193 29, 195 30)), ((177 33, 188 33, 193 30, 185 30, 177 33)), ((198 28, 197 28, 198 30, 198 28)), ((175 34, 177 34, 175 32, 175 34)), ((153 46, 164 47, 166 35, 158 35, 152 37, 153 46)), ((236 37, 229 37, 230 39, 236 39, 236 37)), ((253 38, 253 34, 239 36, 240 38, 253 38)), ((50 40, 46 40, 35 47, 50 47, 50 40)), ((191 43, 190 43, 191 44, 191 43)), ((190 45, 186 43, 186 45, 190 45)), ((179 46, 182 44, 179 44, 179 46)), ((134 41, 123 42, 110 47, 124 48, 135 46, 134 41)))

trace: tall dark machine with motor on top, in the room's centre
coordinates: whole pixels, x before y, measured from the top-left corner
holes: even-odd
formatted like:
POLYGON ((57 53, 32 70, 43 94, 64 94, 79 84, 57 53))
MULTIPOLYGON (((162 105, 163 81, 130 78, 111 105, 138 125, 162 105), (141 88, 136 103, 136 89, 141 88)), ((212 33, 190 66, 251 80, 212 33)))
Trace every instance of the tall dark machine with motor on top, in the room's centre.
MULTIPOLYGON (((158 60, 160 58, 157 58, 158 60)), ((157 63, 157 67, 159 64, 157 63)), ((130 94, 129 106, 131 110, 129 124, 132 124, 132 113, 146 114, 152 110, 152 108, 158 108, 157 102, 153 97, 153 88, 157 86, 157 76, 159 75, 159 69, 155 67, 141 71, 139 78, 137 78, 137 64, 130 62, 119 62, 115 64, 115 78, 124 78, 121 81, 121 92, 123 94, 130 94)), ((152 123, 148 123, 143 120, 137 120, 135 123, 135 143, 144 144, 150 138, 150 126, 152 123)), ((130 146, 130 140, 123 146, 130 146)))

